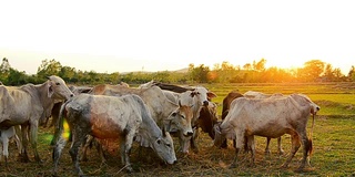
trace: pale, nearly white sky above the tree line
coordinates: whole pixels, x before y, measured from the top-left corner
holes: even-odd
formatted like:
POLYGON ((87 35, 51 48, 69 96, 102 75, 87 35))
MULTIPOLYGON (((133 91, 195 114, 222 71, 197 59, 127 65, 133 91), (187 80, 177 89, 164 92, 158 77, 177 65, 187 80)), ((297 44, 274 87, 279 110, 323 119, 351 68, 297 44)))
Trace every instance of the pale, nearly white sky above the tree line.
POLYGON ((0 59, 37 73, 44 59, 82 71, 166 71, 265 59, 355 65, 354 1, 129 0, 0 2, 0 59))

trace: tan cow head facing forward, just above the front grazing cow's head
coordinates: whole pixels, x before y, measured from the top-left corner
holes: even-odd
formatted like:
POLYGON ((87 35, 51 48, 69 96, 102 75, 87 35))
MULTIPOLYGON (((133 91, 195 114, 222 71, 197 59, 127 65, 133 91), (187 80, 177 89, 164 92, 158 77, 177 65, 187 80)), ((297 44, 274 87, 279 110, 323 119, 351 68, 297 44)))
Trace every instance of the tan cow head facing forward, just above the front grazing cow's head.
POLYGON ((181 102, 179 102, 179 108, 174 111, 169 118, 169 131, 180 131, 184 136, 191 136, 193 134, 191 125, 192 118, 193 112, 191 106, 181 105, 181 102))

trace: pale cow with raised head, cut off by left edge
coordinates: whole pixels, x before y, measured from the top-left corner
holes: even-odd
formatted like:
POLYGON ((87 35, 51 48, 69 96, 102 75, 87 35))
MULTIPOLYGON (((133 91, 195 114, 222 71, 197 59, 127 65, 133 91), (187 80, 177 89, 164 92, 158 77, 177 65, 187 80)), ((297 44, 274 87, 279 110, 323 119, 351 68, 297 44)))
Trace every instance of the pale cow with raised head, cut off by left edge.
POLYGON ((58 100, 68 100, 73 93, 59 76, 49 76, 43 84, 23 86, 0 86, 0 129, 21 125, 21 156, 29 160, 27 154, 28 132, 34 150, 34 158, 40 162, 37 150, 38 124, 43 114, 51 112, 58 100), (30 129, 29 129, 30 128, 30 129))

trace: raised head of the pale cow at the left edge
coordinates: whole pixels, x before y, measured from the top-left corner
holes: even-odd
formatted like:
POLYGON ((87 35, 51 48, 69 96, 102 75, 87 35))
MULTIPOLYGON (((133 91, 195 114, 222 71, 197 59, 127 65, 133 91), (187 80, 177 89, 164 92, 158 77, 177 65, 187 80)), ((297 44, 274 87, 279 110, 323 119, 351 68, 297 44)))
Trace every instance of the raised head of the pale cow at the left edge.
POLYGON ((48 97, 69 100, 74 94, 68 88, 65 82, 55 75, 48 77, 48 97))

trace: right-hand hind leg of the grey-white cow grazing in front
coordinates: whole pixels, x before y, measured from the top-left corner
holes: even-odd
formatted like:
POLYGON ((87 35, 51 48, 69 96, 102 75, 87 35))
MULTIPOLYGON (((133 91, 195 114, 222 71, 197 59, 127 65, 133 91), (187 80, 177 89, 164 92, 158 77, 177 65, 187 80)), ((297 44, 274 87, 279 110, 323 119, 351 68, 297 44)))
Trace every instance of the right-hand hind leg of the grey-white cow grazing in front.
POLYGON ((83 133, 80 129, 73 129, 72 131, 72 144, 71 144, 71 148, 69 149, 69 154, 71 156, 71 160, 74 164, 74 171, 75 174, 78 174, 79 176, 82 176, 83 173, 80 168, 80 164, 79 164, 79 147, 82 145, 82 142, 85 138, 85 133, 83 133))

